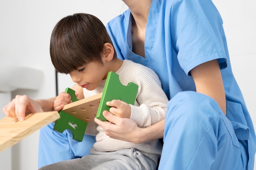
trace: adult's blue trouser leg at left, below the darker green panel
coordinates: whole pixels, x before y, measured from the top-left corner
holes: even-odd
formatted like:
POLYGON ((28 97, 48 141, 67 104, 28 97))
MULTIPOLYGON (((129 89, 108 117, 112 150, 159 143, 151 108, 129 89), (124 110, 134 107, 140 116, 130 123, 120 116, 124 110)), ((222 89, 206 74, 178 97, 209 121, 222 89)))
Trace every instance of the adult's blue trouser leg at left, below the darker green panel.
POLYGON ((53 130, 54 123, 40 129, 38 149, 38 169, 42 166, 83 157, 90 154, 90 149, 96 142, 95 136, 84 135, 82 142, 72 139, 69 130, 58 133, 53 130))

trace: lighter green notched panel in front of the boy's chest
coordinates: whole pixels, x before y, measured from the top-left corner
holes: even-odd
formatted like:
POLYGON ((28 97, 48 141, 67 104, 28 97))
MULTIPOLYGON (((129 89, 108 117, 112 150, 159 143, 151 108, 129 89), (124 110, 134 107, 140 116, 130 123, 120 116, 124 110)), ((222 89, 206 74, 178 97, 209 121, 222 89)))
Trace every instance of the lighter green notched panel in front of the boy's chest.
POLYGON ((115 72, 109 72, 108 77, 103 89, 101 101, 99 103, 99 109, 97 111, 96 118, 102 121, 106 121, 106 118, 102 115, 104 110, 109 111, 110 106, 106 105, 106 102, 111 100, 122 100, 128 104, 134 105, 136 95, 138 92, 138 85, 130 82, 128 85, 123 85, 119 80, 119 75, 115 72))

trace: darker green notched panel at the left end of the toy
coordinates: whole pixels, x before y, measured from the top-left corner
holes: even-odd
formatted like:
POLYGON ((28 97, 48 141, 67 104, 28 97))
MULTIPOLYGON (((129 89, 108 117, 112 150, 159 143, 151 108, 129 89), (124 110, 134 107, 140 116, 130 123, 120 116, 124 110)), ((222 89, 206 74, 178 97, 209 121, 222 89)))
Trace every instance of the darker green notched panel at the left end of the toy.
MULTIPOLYGON (((73 89, 66 88, 65 92, 70 94, 72 102, 78 101, 73 89)), ((87 123, 67 114, 65 111, 59 111, 59 115, 61 118, 55 121, 53 130, 59 133, 63 133, 63 131, 69 129, 72 133, 73 139, 81 142, 83 140, 87 123)))

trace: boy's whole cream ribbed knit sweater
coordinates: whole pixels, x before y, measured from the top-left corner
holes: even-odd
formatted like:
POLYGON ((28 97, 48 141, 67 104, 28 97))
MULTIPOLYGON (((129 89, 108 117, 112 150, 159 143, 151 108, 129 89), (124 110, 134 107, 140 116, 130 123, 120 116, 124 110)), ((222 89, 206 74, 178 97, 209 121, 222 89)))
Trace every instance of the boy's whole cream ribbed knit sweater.
MULTIPOLYGON (((116 73, 119 74, 120 82, 123 85, 133 82, 139 86, 135 105, 131 105, 132 112, 130 119, 134 120, 139 127, 147 127, 165 118, 168 98, 162 90, 158 76, 153 70, 138 63, 124 60, 121 68, 116 73)), ((103 80, 99 87, 92 91, 84 88, 84 97, 87 98, 103 92, 105 82, 106 80, 103 80)), ((88 124, 85 133, 96 135, 97 142, 93 147, 101 152, 127 148, 137 148, 144 155, 147 155, 147 153, 161 155, 162 152, 162 144, 158 139, 142 144, 133 144, 131 142, 112 139, 95 122, 88 124)))

